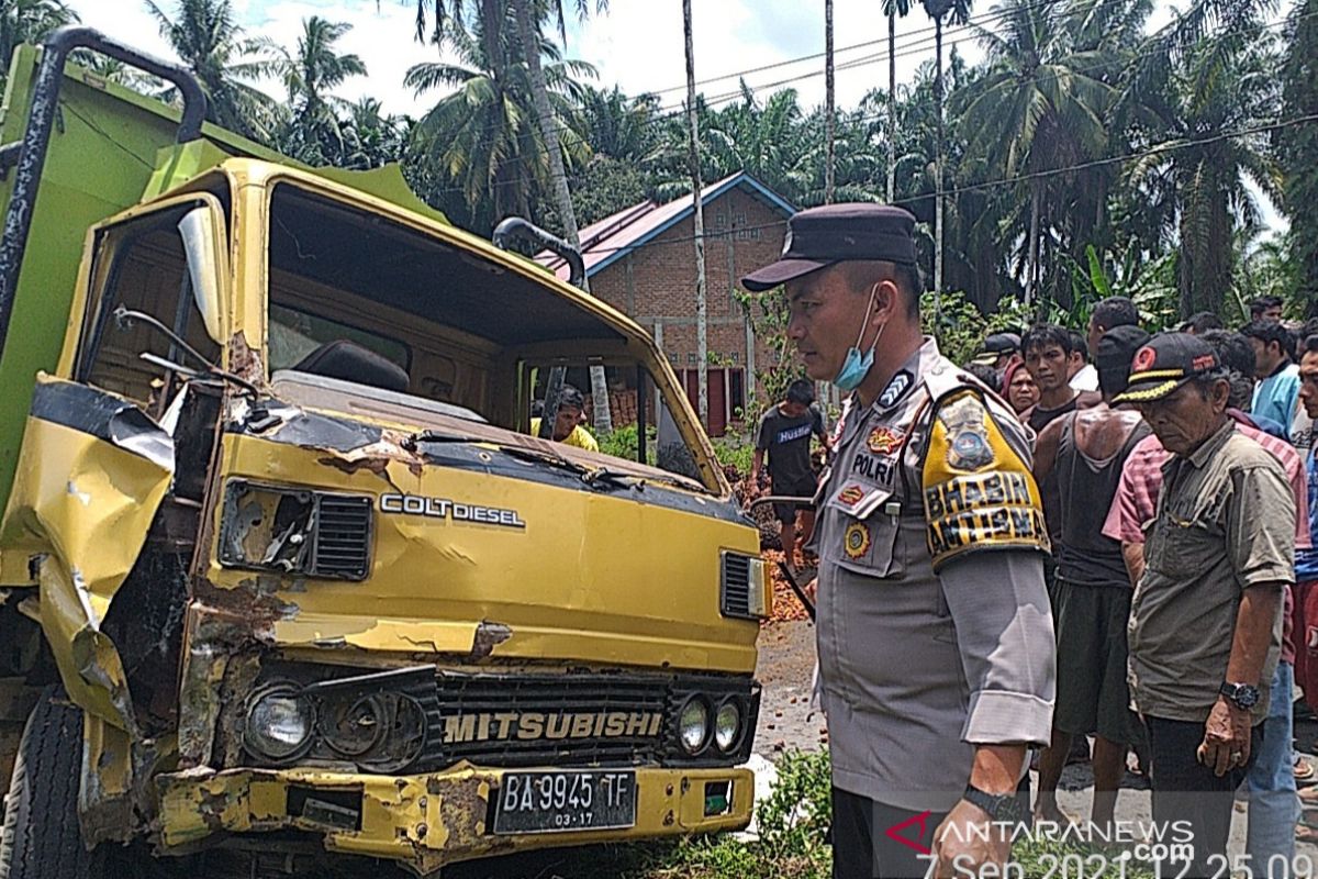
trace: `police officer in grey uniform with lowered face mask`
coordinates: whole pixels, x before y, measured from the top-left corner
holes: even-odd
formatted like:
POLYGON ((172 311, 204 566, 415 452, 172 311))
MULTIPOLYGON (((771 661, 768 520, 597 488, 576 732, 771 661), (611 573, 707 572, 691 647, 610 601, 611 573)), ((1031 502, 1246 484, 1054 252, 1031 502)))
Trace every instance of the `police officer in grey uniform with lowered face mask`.
MULTIPOLYGON (((811 378, 850 397, 820 485, 817 647, 833 760, 833 875, 1002 866, 1025 749, 1054 689, 1048 532, 1032 436, 920 332, 915 217, 795 215, 782 258, 811 378)), ((1000 874, 999 874, 1000 875, 1000 874)))

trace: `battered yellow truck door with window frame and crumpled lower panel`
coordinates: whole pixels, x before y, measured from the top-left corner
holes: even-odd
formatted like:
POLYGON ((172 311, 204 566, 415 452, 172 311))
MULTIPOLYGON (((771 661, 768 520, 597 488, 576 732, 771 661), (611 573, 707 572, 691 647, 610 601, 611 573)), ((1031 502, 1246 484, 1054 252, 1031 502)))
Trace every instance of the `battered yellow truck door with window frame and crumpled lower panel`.
MULTIPOLYGON (((70 697, 129 733, 137 730, 132 666, 125 671, 115 639, 123 627, 107 618, 162 503, 200 509, 207 460, 185 441, 195 431, 181 424, 196 411, 206 372, 198 356, 212 364, 221 356, 224 239, 223 208, 204 194, 92 229, 59 374, 37 376, 0 523, 0 559, 7 571, 22 560, 36 581, 41 626, 70 697), (137 318, 125 319, 125 310, 137 318)), ((217 403, 207 411, 217 418, 217 403)), ((130 625, 159 610, 134 608, 130 625)))

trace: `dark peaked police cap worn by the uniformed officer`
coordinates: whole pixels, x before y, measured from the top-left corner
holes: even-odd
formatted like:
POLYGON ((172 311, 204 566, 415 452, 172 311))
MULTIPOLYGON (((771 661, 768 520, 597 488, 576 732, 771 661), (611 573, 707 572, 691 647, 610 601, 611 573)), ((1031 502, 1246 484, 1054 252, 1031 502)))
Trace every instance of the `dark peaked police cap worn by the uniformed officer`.
POLYGON ((915 216, 888 204, 825 204, 787 221, 783 256, 751 271, 742 286, 770 290, 816 269, 849 260, 915 265, 915 216))

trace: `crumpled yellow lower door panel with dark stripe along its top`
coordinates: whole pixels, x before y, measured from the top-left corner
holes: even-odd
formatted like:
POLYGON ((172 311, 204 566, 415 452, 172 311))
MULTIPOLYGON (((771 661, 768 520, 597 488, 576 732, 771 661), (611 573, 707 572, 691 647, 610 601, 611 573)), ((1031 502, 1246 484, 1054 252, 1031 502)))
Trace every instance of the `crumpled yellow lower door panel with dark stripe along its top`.
POLYGON ((70 697, 133 733, 128 681, 100 630, 174 476, 174 447, 133 403, 37 377, 0 553, 28 557, 70 697))

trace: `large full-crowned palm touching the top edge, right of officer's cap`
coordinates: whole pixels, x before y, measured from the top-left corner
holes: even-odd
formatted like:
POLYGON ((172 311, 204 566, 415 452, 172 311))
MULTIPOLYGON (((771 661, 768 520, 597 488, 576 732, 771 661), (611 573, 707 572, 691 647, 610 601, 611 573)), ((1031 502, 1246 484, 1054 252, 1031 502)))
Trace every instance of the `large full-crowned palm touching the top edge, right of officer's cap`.
MULTIPOLYGON (((1027 304, 1041 281, 1040 224, 1053 182, 1050 173, 1107 154, 1104 120, 1116 90, 1101 76, 1119 70, 1122 55, 1078 51, 1074 30, 1085 21, 1077 13, 1098 1, 1008 0, 995 7, 998 29, 978 29, 987 50, 987 69, 953 100, 965 107, 961 124, 967 150, 983 157, 986 170, 998 178, 1028 178, 1023 184, 1029 203, 1027 304)), ((1061 181, 1061 188, 1068 191, 1077 184, 1075 179, 1061 181)))

